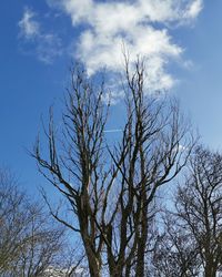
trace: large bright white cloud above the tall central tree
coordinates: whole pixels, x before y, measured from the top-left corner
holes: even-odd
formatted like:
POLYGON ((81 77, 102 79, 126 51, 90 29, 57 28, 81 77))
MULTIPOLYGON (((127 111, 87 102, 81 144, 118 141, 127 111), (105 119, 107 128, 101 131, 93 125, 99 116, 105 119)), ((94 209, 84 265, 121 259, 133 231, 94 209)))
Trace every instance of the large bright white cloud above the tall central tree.
POLYGON ((167 65, 172 60, 181 61, 183 49, 173 42, 169 24, 189 24, 203 8, 202 0, 48 0, 48 3, 60 6, 70 16, 73 28, 84 27, 73 52, 89 74, 102 68, 119 72, 124 44, 132 62, 139 54, 145 58, 151 90, 168 90, 175 82, 167 65))

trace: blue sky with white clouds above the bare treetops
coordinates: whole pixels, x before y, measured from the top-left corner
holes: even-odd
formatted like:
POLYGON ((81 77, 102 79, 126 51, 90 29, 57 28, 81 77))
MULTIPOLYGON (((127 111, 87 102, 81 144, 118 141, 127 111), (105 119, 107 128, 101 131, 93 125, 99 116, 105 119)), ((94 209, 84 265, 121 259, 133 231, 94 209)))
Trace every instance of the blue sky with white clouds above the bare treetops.
POLYGON ((0 164, 30 191, 43 182, 26 148, 49 106, 60 110, 71 60, 89 75, 115 73, 123 45, 147 57, 148 91, 175 94, 202 141, 222 150, 221 11, 221 0, 1 1, 0 164))

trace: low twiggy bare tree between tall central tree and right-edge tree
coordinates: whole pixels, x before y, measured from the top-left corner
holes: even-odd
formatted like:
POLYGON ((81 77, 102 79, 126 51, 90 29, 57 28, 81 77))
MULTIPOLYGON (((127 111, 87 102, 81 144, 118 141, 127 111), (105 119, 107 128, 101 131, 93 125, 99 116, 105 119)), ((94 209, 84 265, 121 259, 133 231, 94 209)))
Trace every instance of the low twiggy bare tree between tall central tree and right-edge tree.
POLYGON ((201 260, 191 234, 180 226, 171 213, 167 213, 163 224, 164 232, 159 235, 152 255, 153 276, 200 276, 201 260))

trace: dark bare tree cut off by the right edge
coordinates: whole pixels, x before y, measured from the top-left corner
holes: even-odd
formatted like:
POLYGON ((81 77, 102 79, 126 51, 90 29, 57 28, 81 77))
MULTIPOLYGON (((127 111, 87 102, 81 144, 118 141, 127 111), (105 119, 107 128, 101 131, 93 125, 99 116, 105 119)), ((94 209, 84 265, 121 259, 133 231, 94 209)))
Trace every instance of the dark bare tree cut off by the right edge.
MULTIPOLYGON (((189 165, 185 182, 178 188, 175 212, 171 214, 174 228, 167 230, 173 245, 168 256, 176 253, 182 258, 182 254, 186 263, 195 257, 198 276, 215 277, 222 263, 222 156, 199 146, 189 165)), ((175 259, 173 263, 180 264, 175 259)))

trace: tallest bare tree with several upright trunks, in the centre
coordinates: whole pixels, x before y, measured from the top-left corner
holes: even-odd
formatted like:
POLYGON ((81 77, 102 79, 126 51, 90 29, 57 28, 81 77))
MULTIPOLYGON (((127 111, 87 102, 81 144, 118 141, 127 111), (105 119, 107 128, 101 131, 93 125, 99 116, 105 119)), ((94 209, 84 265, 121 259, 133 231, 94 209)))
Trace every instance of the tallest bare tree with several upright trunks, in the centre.
MULTIPOLYGON (((125 60, 127 61, 127 60, 125 60)), ((145 94, 144 66, 133 74, 125 62, 125 122, 122 138, 105 141, 109 105, 81 68, 71 71, 62 127, 50 115, 48 156, 38 138, 40 172, 64 196, 71 214, 56 219, 80 234, 91 276, 144 276, 145 253, 155 214, 155 194, 185 165, 193 141, 176 104, 145 94), (168 102, 168 104, 167 104, 168 102)))

